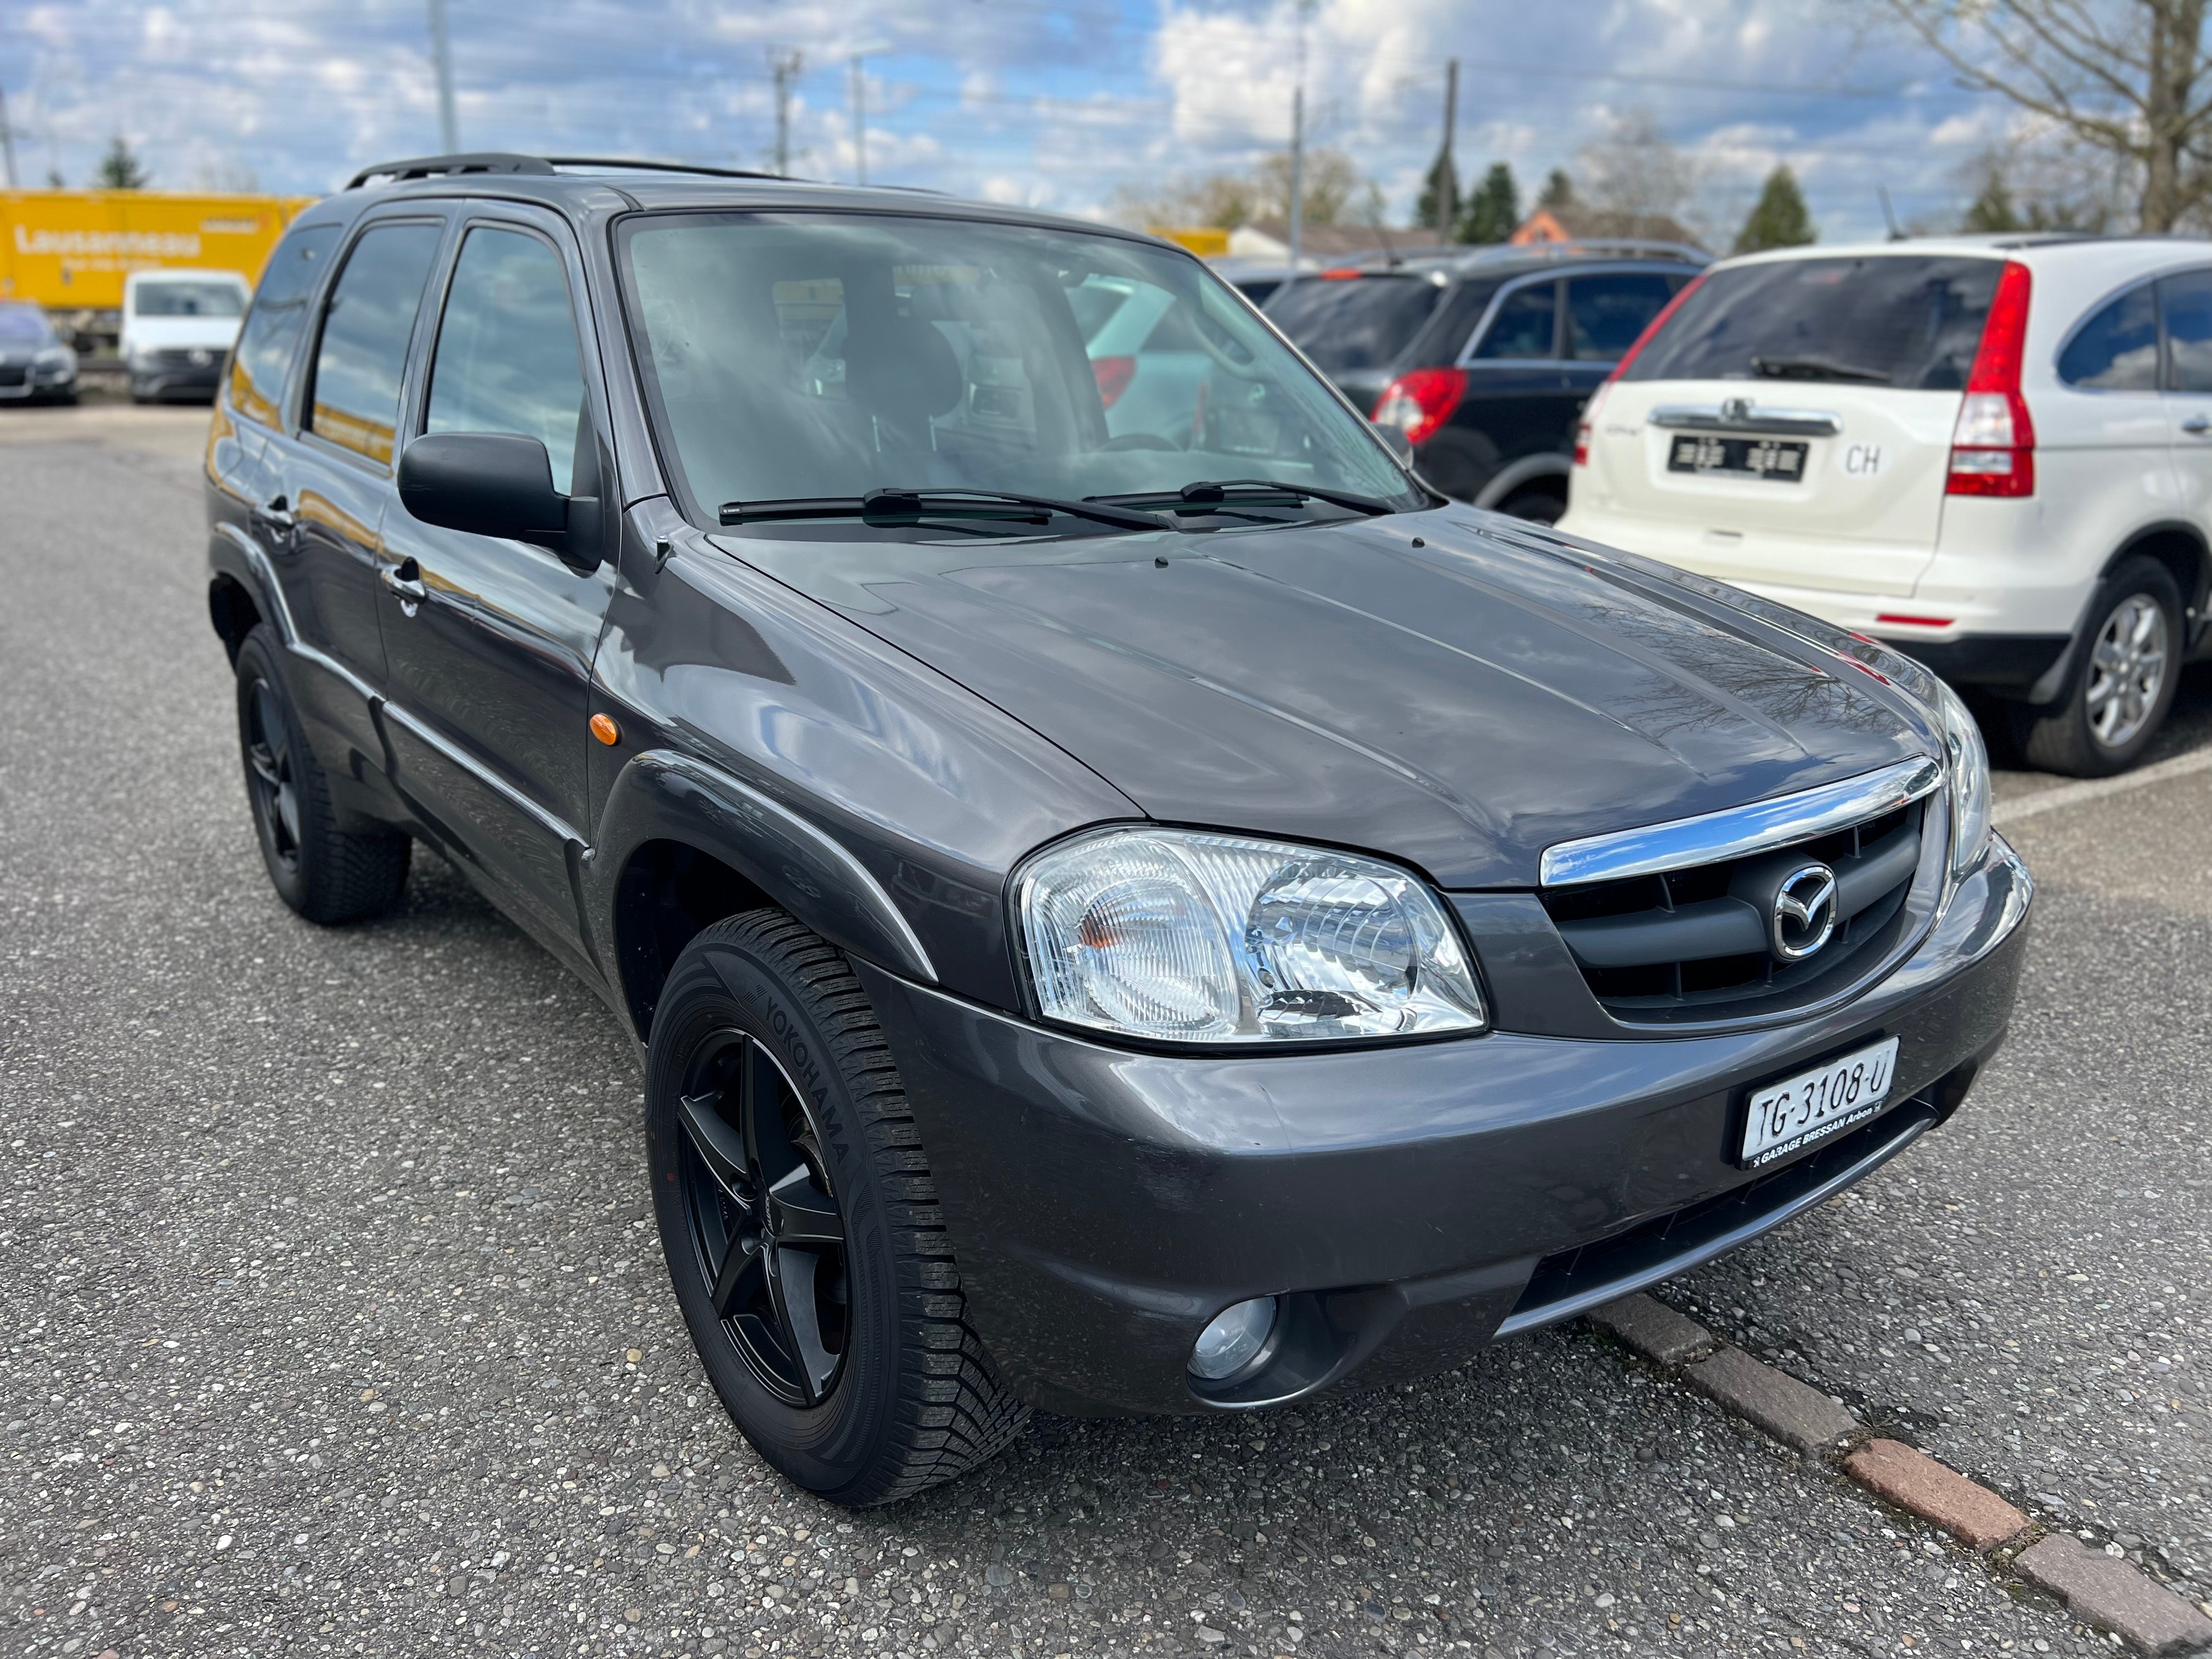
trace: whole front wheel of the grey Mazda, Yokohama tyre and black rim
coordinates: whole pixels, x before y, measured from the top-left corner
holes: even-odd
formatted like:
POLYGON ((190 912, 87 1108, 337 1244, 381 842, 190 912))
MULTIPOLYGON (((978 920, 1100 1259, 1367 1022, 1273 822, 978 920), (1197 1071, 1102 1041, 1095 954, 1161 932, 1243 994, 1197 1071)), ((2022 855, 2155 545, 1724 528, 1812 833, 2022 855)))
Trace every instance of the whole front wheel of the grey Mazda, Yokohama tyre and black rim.
POLYGON ((783 911, 717 922, 670 969, 646 1148, 699 1363, 783 1475, 883 1504, 1020 1433, 867 995, 783 911))

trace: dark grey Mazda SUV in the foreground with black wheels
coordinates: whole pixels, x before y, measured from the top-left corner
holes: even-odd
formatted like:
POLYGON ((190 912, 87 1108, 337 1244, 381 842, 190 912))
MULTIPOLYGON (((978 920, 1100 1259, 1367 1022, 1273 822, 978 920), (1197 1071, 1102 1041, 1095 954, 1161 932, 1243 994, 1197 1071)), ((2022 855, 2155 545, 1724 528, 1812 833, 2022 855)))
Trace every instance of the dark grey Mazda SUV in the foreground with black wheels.
POLYGON ((606 1000, 701 1367, 838 1502, 1679 1274, 2011 1018, 1940 681, 1453 507, 1148 237, 394 164, 272 254, 206 478, 276 894, 425 841, 606 1000), (1093 279, 1210 358, 1188 447, 1110 431, 1093 279))

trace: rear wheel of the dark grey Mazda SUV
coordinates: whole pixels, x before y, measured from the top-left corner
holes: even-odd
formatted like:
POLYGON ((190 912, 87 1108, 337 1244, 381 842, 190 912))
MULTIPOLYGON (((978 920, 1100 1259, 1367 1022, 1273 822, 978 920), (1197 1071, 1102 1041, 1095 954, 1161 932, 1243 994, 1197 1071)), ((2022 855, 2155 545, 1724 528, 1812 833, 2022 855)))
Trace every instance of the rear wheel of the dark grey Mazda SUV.
POLYGON ((398 830, 338 827, 330 781, 276 672, 268 624, 239 646, 239 750, 261 863, 285 905, 330 925, 383 916, 400 902, 414 843, 398 830))

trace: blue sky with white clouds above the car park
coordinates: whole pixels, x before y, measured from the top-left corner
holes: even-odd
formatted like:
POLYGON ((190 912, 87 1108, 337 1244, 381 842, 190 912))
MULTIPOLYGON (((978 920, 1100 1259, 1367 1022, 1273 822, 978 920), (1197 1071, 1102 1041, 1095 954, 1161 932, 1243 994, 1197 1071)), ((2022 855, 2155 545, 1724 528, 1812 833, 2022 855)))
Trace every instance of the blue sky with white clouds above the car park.
MULTIPOLYGON (((1310 139, 1411 215, 1460 62, 1462 175, 1553 166, 1648 115, 1728 232, 1787 161, 1825 241, 1955 221, 2008 111, 1874 22, 1876 0, 445 0, 460 146, 774 164, 1079 215, 1245 170, 1310 139), (1303 13, 1303 22, 1301 22, 1303 13)), ((325 192, 440 150, 429 0, 0 0, 0 91, 24 186, 91 181, 124 135, 157 188, 325 192)))

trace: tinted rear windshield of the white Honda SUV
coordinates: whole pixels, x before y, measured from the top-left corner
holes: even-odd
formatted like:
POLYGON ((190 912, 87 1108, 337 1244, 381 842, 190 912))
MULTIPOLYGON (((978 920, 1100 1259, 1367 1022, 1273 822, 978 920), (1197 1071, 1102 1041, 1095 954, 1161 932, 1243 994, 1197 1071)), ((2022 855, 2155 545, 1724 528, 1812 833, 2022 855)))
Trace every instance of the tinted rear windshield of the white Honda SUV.
POLYGON ((1829 380, 1958 392, 2002 259, 1869 254, 1717 270, 1624 380, 1829 380))

